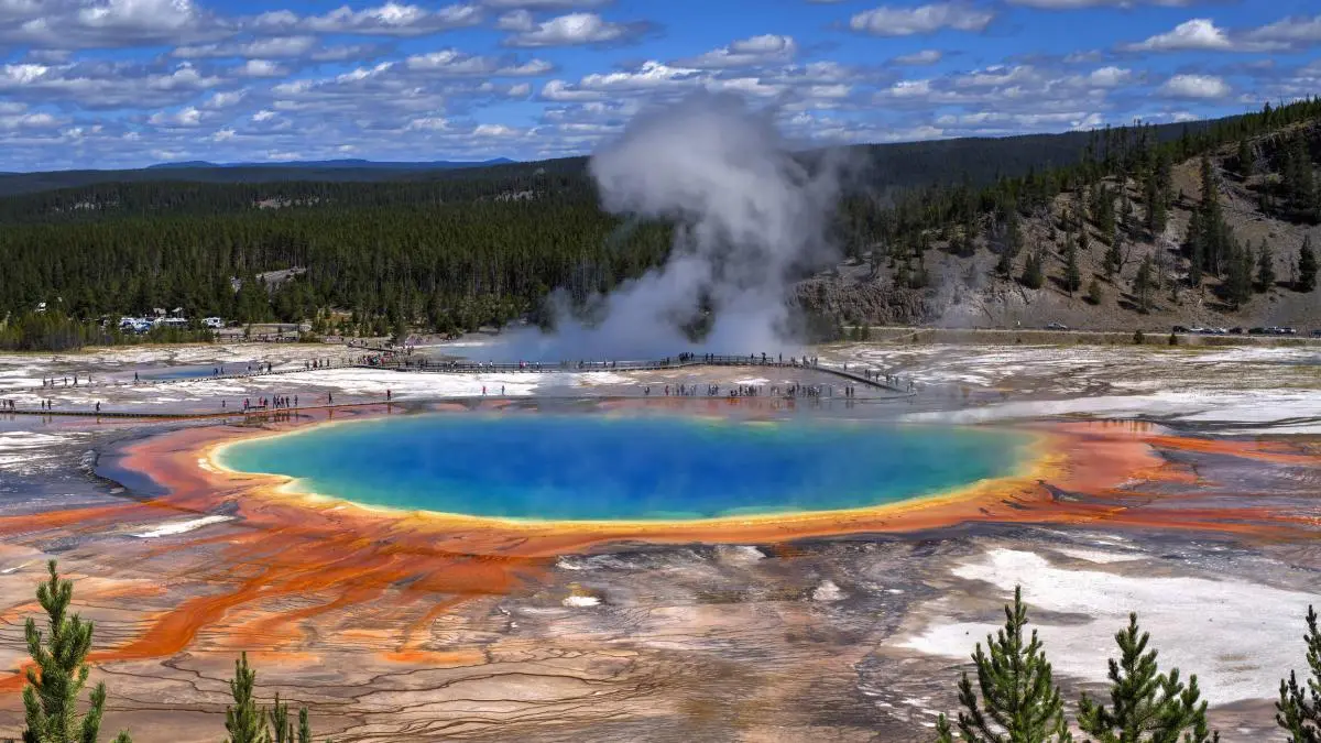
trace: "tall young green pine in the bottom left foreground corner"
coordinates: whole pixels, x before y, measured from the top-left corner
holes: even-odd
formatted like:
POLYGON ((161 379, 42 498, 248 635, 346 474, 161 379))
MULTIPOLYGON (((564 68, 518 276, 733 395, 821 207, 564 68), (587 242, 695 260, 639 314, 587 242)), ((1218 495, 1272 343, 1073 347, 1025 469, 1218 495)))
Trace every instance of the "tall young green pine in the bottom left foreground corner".
MULTIPOLYGON (((28 654, 36 668, 26 669, 28 684, 22 689, 26 714, 24 743, 95 743, 100 732, 100 718, 106 709, 106 684, 91 691, 87 714, 78 719, 78 695, 87 685, 91 669, 86 665, 91 649, 92 623, 79 615, 67 616, 74 599, 71 580, 61 580, 55 561, 46 563, 50 579, 37 587, 37 603, 46 609, 48 635, 37 629, 37 621, 28 617, 24 628, 28 654)), ((115 738, 116 743, 129 743, 127 732, 115 738)))

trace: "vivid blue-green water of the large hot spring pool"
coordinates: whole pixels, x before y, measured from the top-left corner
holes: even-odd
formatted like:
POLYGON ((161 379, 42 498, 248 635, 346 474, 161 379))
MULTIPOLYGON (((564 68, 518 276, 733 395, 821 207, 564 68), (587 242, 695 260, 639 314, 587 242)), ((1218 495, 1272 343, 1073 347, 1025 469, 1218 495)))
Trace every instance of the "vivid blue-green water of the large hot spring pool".
POLYGON ((361 504, 524 520, 683 520, 893 502, 1004 476, 1029 438, 954 427, 427 414, 239 442, 221 461, 361 504))

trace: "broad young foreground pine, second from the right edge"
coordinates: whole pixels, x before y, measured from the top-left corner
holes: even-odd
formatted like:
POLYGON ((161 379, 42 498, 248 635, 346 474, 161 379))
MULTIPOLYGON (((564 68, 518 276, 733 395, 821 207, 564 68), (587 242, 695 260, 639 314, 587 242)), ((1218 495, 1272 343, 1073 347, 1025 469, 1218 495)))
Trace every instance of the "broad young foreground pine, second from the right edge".
POLYGON ((1206 726, 1206 702, 1197 676, 1190 676, 1185 686, 1177 668, 1160 673, 1157 652, 1147 649, 1148 640, 1148 633, 1137 628, 1137 615, 1129 613, 1128 627, 1115 633, 1119 660, 1110 660, 1111 706, 1083 694, 1078 727, 1096 743, 1218 742, 1219 732, 1206 726))

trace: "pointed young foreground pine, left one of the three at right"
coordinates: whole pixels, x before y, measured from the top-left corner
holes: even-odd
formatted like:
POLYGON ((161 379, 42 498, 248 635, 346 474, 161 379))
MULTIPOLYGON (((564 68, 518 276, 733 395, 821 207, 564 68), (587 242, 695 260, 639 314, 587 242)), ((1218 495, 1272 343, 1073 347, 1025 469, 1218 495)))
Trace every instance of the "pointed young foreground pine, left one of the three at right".
POLYGON ((987 636, 991 654, 983 652, 980 643, 972 653, 980 701, 964 673, 959 680, 959 703, 964 709, 954 724, 941 715, 937 739, 941 743, 1071 742, 1063 699, 1037 632, 1033 629, 1030 640, 1024 641, 1028 609, 1022 604, 1021 587, 1013 590, 1013 606, 1005 606, 1004 615, 1004 629, 995 637, 987 636))

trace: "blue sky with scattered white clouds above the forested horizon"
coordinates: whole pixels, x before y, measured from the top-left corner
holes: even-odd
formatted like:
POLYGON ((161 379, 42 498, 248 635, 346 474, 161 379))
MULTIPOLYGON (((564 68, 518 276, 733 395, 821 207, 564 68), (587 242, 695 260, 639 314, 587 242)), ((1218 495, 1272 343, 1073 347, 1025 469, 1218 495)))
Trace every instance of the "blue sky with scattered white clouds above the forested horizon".
POLYGON ((734 93, 803 143, 1321 93, 1317 0, 0 0, 0 171, 587 153, 734 93))

